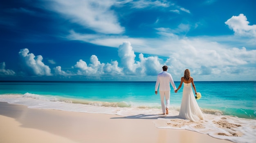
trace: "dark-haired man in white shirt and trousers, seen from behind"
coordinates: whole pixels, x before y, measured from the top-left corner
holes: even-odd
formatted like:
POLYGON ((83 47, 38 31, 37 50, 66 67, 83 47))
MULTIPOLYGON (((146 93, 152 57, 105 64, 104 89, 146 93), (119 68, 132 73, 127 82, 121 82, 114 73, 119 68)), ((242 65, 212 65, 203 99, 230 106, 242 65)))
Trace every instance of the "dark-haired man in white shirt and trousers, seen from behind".
POLYGON ((167 66, 163 66, 163 72, 159 73, 157 75, 157 82, 155 83, 155 94, 157 95, 157 89, 159 86, 159 92, 160 92, 160 99, 161 99, 161 105, 163 114, 169 114, 169 105, 170 105, 170 83, 173 86, 173 89, 176 90, 176 86, 173 81, 173 77, 170 73, 167 73, 167 66), (166 100, 166 106, 164 105, 164 97, 166 100))

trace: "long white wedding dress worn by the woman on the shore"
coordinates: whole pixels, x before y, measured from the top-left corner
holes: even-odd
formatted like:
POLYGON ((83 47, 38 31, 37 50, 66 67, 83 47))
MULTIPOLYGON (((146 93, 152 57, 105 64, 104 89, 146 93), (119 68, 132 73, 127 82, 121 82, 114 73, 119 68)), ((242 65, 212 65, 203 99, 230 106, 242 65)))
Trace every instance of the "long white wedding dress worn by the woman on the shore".
POLYGON ((200 119, 204 119, 204 115, 200 110, 197 101, 195 100, 191 83, 183 84, 179 117, 182 119, 189 119, 191 121, 200 121, 200 119))

